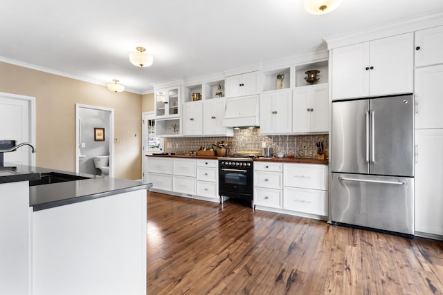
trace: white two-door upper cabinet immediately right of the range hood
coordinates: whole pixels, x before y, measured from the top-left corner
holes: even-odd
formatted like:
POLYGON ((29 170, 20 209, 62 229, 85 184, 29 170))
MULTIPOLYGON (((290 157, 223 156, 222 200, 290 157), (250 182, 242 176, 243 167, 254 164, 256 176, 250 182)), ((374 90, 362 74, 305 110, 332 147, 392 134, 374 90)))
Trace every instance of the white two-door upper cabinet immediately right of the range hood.
POLYGON ((270 91, 260 95, 260 133, 291 133, 292 91, 270 91))

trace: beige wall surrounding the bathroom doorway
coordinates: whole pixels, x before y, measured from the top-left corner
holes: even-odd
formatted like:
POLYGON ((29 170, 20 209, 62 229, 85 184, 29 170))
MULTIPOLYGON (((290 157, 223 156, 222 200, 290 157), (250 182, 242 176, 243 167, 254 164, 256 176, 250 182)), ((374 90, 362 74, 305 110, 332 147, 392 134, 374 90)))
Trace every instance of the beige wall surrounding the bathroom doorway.
POLYGON ((0 77, 0 92, 35 97, 37 166, 75 171, 75 104, 88 104, 114 108, 114 176, 141 178, 142 95, 2 62, 0 77))

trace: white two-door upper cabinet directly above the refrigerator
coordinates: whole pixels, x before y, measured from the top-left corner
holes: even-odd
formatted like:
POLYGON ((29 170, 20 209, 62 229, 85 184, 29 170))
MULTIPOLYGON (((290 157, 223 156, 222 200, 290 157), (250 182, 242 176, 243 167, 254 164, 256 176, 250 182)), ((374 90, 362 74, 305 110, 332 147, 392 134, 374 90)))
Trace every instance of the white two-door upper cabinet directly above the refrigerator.
POLYGON ((413 92, 413 33, 332 50, 332 99, 413 92))

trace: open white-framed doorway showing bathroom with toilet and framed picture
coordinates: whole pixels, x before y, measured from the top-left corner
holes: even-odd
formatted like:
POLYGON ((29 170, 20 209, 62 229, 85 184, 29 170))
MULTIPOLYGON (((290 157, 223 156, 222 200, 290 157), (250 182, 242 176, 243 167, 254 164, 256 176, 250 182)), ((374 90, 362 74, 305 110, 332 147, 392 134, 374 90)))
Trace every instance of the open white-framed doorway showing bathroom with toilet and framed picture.
POLYGON ((75 172, 100 175, 93 157, 106 155, 114 177, 114 109, 75 104, 75 172))

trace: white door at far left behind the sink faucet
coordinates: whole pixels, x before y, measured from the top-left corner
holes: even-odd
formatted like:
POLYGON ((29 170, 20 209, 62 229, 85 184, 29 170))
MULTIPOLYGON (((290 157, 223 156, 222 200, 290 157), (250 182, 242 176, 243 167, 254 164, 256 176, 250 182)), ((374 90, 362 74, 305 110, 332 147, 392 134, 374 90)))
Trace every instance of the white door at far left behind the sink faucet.
MULTIPOLYGON (((29 142, 35 146, 33 97, 0 93, 0 140, 29 142)), ((36 150, 38 149, 35 147, 36 150)), ((35 166, 35 154, 30 147, 4 153, 4 162, 35 166)))

